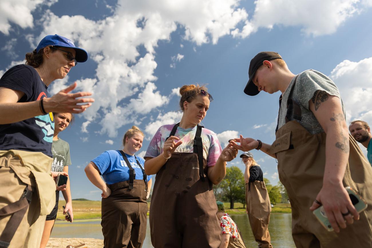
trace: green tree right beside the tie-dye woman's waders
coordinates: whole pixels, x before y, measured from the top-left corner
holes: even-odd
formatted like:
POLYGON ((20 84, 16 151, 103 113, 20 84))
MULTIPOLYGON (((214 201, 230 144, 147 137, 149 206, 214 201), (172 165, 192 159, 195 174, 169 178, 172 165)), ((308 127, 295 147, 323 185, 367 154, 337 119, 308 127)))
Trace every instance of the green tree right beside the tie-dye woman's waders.
POLYGON ((222 199, 230 202, 230 208, 234 208, 234 202, 245 199, 244 175, 236 166, 226 168, 226 175, 221 182, 222 199))

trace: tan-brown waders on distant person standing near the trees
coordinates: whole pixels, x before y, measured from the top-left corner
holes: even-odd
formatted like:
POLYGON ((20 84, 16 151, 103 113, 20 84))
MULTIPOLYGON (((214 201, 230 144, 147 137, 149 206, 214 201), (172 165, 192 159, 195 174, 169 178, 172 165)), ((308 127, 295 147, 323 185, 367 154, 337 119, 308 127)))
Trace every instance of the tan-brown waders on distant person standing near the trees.
POLYGON ((246 183, 246 207, 254 239, 260 248, 272 247, 269 234, 271 204, 263 181, 246 183))

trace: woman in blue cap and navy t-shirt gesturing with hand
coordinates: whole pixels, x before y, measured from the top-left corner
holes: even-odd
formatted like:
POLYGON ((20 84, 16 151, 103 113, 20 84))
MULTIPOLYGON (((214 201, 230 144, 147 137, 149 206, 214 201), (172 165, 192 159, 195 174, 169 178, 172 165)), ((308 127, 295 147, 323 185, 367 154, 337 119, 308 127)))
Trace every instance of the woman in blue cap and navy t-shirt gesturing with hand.
POLYGON ((81 113, 94 102, 93 98, 78 98, 91 96, 90 92, 70 93, 76 83, 52 97, 47 97, 47 89, 52 81, 65 78, 77 62, 87 58, 87 52, 75 47, 70 39, 48 35, 26 54, 26 64, 10 68, 0 79, 0 209, 23 201, 23 196, 29 203, 21 223, 11 219, 21 210, 8 210, 9 214, 0 218, 2 244, 40 245, 45 216, 55 205, 52 177, 58 174, 50 173, 52 112, 81 113), (18 226, 22 231, 17 230, 18 226))

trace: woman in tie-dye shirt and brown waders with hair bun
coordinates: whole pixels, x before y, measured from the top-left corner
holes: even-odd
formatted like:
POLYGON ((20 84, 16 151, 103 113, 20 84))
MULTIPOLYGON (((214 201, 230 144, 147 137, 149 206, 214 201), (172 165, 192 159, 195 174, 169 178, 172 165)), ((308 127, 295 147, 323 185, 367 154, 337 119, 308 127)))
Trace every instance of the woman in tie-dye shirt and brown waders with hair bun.
POLYGON ((221 229, 212 184, 225 177, 238 150, 222 150, 217 135, 199 123, 213 100, 206 87, 180 88, 182 119, 163 125, 145 155, 145 171, 156 174, 150 205, 154 247, 219 247, 221 229))

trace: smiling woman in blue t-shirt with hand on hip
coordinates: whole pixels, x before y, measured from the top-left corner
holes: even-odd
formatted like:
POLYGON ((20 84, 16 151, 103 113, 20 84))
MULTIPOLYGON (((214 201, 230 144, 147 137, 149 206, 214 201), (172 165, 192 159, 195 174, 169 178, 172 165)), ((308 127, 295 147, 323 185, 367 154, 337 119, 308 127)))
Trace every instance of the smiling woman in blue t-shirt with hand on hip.
POLYGON ((140 248, 146 235, 147 203, 151 175, 144 159, 134 154, 142 147, 144 134, 136 126, 126 131, 122 150, 109 150, 86 167, 88 179, 102 190, 102 232, 105 247, 140 248), (103 180, 101 178, 103 177, 103 180))

